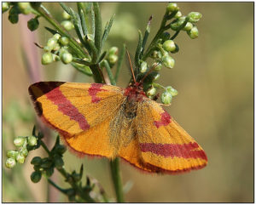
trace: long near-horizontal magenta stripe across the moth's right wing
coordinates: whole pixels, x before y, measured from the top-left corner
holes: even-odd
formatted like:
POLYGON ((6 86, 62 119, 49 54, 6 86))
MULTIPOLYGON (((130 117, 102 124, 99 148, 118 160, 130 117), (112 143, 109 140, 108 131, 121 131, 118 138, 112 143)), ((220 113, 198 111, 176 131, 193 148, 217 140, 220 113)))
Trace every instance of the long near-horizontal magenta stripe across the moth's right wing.
POLYGON ((143 152, 150 151, 163 157, 201 158, 207 160, 207 155, 204 151, 195 151, 199 147, 196 142, 189 142, 189 144, 183 145, 141 143, 140 147, 143 152))

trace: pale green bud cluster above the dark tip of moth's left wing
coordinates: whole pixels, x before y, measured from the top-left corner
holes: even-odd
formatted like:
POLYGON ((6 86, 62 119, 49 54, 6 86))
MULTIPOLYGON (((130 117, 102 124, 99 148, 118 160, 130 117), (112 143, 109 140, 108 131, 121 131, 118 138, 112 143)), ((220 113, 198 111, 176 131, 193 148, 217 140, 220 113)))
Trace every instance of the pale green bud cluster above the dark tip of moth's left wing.
POLYGON ((58 33, 50 37, 47 45, 44 46, 45 53, 42 56, 42 64, 47 65, 58 60, 61 60, 64 64, 71 63, 73 55, 68 52, 68 43, 68 37, 61 37, 58 33))

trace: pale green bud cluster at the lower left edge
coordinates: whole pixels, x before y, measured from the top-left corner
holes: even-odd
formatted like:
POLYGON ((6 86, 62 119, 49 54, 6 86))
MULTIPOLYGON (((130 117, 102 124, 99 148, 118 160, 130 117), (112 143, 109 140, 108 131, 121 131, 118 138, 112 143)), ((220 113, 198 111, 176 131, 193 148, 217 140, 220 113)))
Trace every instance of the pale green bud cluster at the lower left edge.
POLYGON ((35 136, 16 137, 14 145, 19 148, 19 150, 7 151, 6 156, 8 158, 5 162, 5 166, 7 168, 14 168, 17 162, 24 163, 28 155, 28 151, 38 145, 38 139, 35 136))

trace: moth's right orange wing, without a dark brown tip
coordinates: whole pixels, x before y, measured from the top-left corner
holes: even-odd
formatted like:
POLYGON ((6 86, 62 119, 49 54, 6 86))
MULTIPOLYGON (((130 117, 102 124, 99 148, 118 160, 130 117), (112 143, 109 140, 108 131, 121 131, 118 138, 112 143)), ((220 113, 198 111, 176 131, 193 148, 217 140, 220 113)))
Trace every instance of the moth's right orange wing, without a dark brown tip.
POLYGON ((137 109, 138 147, 144 163, 160 173, 182 173, 207 165, 206 153, 155 101, 137 109))

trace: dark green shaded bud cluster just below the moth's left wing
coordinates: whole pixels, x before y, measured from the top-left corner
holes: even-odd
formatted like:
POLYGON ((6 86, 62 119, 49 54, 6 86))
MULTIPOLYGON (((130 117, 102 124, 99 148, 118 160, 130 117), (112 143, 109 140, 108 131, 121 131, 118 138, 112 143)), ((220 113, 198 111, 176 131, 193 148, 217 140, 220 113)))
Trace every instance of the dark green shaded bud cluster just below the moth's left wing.
POLYGON ((32 158, 31 164, 34 166, 34 172, 30 176, 32 182, 38 183, 42 178, 42 174, 50 177, 54 173, 55 168, 62 168, 64 166, 62 155, 67 151, 67 148, 64 145, 60 145, 59 142, 60 139, 58 137, 54 148, 50 151, 49 157, 32 158))

